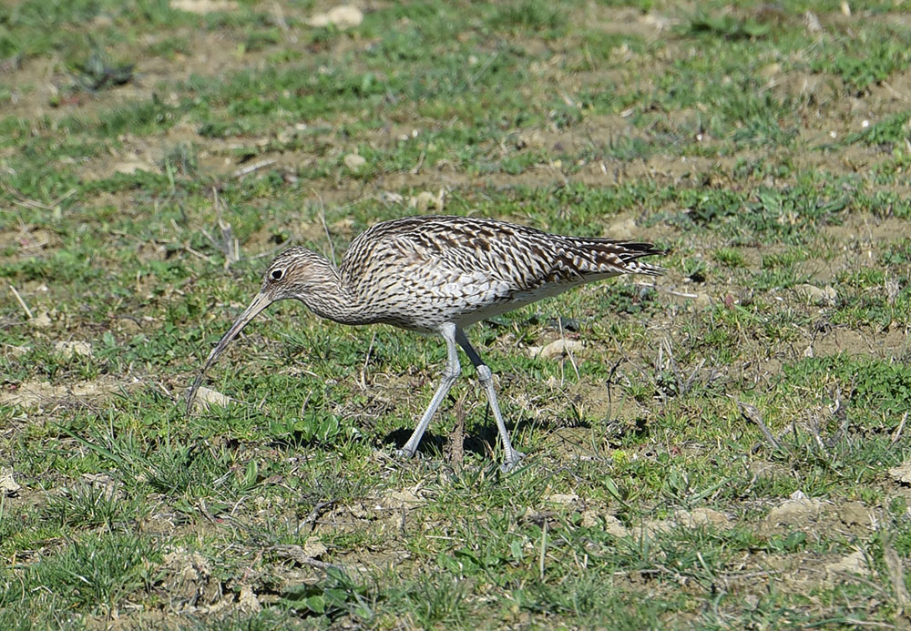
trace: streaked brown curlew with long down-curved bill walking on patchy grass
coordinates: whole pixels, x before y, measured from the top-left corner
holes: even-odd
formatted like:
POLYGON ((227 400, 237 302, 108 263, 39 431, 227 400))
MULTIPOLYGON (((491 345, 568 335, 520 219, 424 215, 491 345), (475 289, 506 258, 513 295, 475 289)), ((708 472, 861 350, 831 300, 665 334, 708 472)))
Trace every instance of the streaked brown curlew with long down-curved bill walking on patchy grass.
POLYGON ((494 219, 408 217, 374 225, 354 239, 337 268, 294 247, 271 262, 260 292, 209 354, 189 391, 231 340, 278 300, 301 300, 313 313, 343 324, 384 323, 437 333, 446 343, 442 380, 400 453, 413 456, 427 425, 461 373, 456 346, 474 364, 503 443, 504 471, 522 458, 513 449, 493 377, 466 337, 477 321, 584 283, 620 274, 660 274, 640 258, 662 253, 650 243, 549 234, 494 219))

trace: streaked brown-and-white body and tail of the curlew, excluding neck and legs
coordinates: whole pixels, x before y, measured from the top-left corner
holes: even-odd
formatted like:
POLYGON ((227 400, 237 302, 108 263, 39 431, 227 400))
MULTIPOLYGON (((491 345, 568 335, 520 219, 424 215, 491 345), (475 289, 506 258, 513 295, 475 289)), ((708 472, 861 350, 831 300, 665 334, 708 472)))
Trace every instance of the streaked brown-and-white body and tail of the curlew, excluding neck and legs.
POLYGON ((659 274, 650 243, 548 234, 494 219, 409 217, 353 240, 340 274, 375 321, 436 331, 466 327, 585 282, 659 274))

